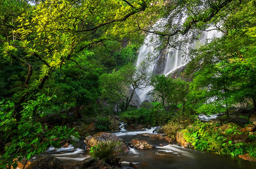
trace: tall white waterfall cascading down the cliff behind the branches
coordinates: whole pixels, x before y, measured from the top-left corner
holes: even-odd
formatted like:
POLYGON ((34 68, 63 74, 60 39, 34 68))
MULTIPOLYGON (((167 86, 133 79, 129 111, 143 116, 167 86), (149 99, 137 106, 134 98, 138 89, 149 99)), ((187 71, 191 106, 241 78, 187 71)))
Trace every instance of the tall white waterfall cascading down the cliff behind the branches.
MULTIPOLYGON (((160 19, 153 27, 159 25, 160 29, 163 29, 163 25, 168 23, 167 19, 160 19)), ((174 17, 172 23, 178 26, 181 26, 186 19, 186 15, 180 13, 177 17, 174 17)), ((157 29, 157 28, 156 28, 157 29)), ((155 30, 156 30, 155 29, 155 30)), ((160 30, 158 29, 158 30, 160 30)), ((147 71, 152 74, 164 74, 167 76, 174 70, 180 68, 181 66, 186 65, 183 61, 182 56, 186 55, 186 52, 189 51, 189 48, 196 48, 202 46, 207 42, 208 39, 219 38, 223 33, 218 32, 214 27, 208 28, 206 31, 200 33, 200 37, 197 41, 185 42, 180 45, 173 47, 165 47, 163 51, 157 51, 155 48, 159 47, 157 42, 160 42, 159 35, 149 33, 144 39, 143 45, 139 49, 138 59, 136 61, 136 66, 139 66, 143 63, 147 63, 147 71)), ((182 42, 184 39, 190 39, 193 36, 193 33, 187 33, 186 35, 177 35, 176 41, 182 42)), ((143 90, 136 90, 136 94, 139 96, 140 101, 150 100, 152 101, 152 96, 148 95, 153 89, 152 86, 147 86, 143 90)))

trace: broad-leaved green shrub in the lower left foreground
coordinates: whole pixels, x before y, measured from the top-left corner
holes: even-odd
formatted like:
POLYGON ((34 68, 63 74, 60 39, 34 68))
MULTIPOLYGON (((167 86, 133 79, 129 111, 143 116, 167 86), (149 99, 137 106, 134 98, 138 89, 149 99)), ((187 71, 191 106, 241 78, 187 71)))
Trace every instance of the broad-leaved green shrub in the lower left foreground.
POLYGON ((62 139, 69 139, 71 135, 77 136, 73 132, 74 128, 70 130, 66 126, 56 126, 49 130, 47 126, 36 122, 37 118, 44 115, 44 104, 51 98, 41 95, 36 100, 24 103, 20 121, 15 119, 15 104, 1 101, 1 143, 11 142, 9 147, 5 147, 6 153, 0 157, 1 168, 12 165, 12 160, 16 157, 30 159, 32 155, 44 152, 49 145, 59 146, 62 139))

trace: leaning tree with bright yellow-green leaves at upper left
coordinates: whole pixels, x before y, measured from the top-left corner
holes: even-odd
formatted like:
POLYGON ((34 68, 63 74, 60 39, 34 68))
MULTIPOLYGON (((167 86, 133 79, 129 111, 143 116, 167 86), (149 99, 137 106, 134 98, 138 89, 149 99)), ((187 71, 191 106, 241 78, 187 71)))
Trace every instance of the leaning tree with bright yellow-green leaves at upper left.
MULTIPOLYGON (((160 6, 151 6, 151 2, 154 1, 95 0, 88 3, 82 0, 78 3, 54 0, 37 1, 34 7, 27 3, 28 8, 24 7, 15 20, 15 38, 19 41, 3 45, 6 57, 28 69, 16 112, 22 109, 22 103, 44 87, 50 75, 76 54, 106 40, 122 40, 126 34, 136 32, 134 19, 160 6), (19 50, 23 55, 18 55, 19 50), (35 66, 40 72, 38 76, 32 75, 35 66), (31 83, 31 78, 36 83, 31 83)), ((149 20, 155 19, 149 17, 149 20)), ((1 26, 6 27, 5 23, 1 26)))

